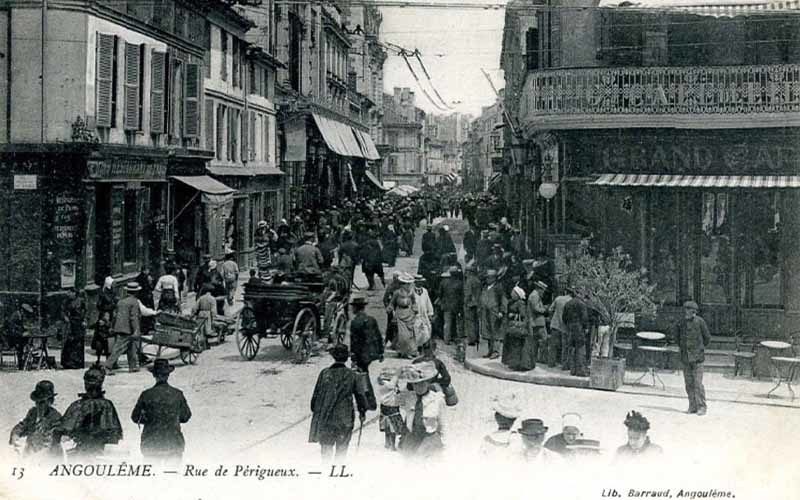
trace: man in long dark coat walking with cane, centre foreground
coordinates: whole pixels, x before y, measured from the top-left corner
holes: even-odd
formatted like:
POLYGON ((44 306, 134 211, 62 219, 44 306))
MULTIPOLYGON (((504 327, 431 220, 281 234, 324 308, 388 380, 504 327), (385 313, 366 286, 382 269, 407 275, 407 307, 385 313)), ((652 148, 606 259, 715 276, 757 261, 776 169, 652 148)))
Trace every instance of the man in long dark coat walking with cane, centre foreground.
POLYGON ((336 344, 329 352, 334 363, 320 372, 311 396, 308 442, 320 444, 323 459, 330 458, 334 448, 336 458, 344 459, 355 425, 353 400, 361 422, 366 416, 367 401, 358 389, 356 373, 345 365, 350 357, 347 345, 336 344))

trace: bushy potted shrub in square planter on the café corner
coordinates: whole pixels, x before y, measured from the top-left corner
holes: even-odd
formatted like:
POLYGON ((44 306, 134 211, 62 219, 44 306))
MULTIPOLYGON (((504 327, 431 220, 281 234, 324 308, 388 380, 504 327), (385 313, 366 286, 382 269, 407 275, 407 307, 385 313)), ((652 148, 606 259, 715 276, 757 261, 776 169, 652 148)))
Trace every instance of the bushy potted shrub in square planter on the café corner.
POLYGON ((599 256, 581 248, 571 256, 565 278, 598 313, 602 324, 598 329, 599 349, 592 357, 590 385, 617 390, 625 375, 625 358, 614 357, 617 330, 631 313, 655 315, 655 285, 648 282, 642 270, 634 268, 621 247, 599 256))

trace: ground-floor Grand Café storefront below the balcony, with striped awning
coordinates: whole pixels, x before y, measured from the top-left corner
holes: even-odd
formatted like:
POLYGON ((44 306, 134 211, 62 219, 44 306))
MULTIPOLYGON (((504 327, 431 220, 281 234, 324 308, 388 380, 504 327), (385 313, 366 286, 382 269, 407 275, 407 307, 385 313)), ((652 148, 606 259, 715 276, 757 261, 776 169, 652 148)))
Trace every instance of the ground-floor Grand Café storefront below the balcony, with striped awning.
POLYGON ((590 238, 598 251, 629 253, 657 284, 658 327, 692 299, 713 334, 800 329, 799 131, 573 131, 558 139, 567 177, 549 202, 549 227, 590 238))

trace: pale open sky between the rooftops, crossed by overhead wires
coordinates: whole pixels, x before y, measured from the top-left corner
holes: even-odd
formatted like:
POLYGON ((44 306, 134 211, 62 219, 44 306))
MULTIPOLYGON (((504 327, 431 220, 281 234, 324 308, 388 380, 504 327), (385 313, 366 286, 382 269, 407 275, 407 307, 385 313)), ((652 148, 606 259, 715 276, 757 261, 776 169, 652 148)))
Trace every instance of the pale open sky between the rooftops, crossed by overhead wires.
MULTIPOLYGON (((489 73, 498 89, 503 87, 499 66, 504 10, 381 7, 381 12, 381 41, 409 50, 419 49, 433 85, 455 109, 440 111, 434 107, 396 53, 390 53, 384 64, 387 93, 392 93, 394 87, 409 87, 416 95, 417 107, 434 114, 458 111, 477 116, 482 106, 494 102, 495 94, 481 68, 489 73)), ((428 93, 436 99, 419 64, 414 58, 409 60, 428 93)))

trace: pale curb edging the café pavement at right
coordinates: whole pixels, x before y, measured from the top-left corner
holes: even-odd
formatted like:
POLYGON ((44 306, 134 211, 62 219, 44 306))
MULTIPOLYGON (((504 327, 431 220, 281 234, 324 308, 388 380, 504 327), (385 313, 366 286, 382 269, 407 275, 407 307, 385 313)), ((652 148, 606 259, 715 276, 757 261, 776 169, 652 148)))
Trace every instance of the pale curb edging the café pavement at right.
MULTIPOLYGON (((583 377, 573 377, 571 375, 535 375, 532 373, 527 372, 512 372, 509 370, 501 370, 498 368, 493 368, 489 366, 484 366, 480 363, 476 363, 473 359, 467 359, 464 362, 464 366, 475 373, 479 373, 481 375, 486 375, 489 377, 501 379, 501 380, 512 380, 514 382, 525 382, 528 384, 536 384, 536 385, 547 385, 547 386, 557 386, 557 387, 569 387, 573 389, 592 389, 589 387, 589 379, 583 377)), ((667 389, 675 389, 671 387, 667 387, 667 389)), ((600 391, 600 389, 597 389, 600 391)), ((677 390, 677 389, 675 389, 677 390)), ((618 394, 627 394, 627 395, 635 395, 635 396, 653 396, 658 398, 669 398, 669 399, 686 399, 686 396, 677 395, 677 394, 670 394, 667 392, 650 392, 650 391, 639 391, 635 389, 634 385, 623 385, 616 391, 602 391, 605 393, 618 393, 618 394)), ((791 403, 781 403, 778 401, 767 402, 767 401, 747 401, 739 399, 742 395, 737 394, 733 397, 725 397, 714 395, 710 393, 707 397, 708 401, 714 402, 723 402, 723 403, 735 403, 735 404, 743 404, 749 406, 772 406, 777 408, 788 408, 788 409, 800 409, 800 406, 791 403)))

